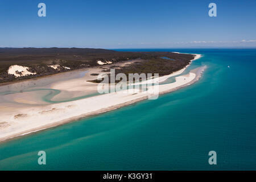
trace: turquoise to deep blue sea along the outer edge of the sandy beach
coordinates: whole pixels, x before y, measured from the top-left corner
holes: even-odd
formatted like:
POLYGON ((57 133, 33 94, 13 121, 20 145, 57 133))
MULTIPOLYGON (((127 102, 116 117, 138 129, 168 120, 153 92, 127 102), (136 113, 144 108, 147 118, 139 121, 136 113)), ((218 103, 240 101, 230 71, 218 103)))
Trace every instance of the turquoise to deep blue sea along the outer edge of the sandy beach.
POLYGON ((1 143, 0 170, 255 170, 256 49, 158 51, 201 53, 189 69, 208 68, 200 81, 158 100, 1 143), (211 150, 217 165, 208 164, 211 150))

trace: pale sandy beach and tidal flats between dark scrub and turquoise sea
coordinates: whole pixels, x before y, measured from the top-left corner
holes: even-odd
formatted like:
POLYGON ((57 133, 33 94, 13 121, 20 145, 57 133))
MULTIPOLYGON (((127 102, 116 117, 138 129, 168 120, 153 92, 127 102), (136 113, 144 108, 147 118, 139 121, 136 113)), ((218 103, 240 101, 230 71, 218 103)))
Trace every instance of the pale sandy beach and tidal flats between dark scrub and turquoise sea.
MULTIPOLYGON (((196 55, 193 60, 199 59, 200 57, 201 55, 196 55)), ((168 77, 180 75, 186 68, 180 69, 171 75, 159 77, 159 82, 165 81, 168 77)), ((160 84, 159 94, 171 92, 193 84, 193 82, 200 78, 204 68, 200 67, 192 70, 187 75, 177 76, 175 77, 176 81, 170 84, 160 84)), ((95 76, 91 76, 90 74, 97 73, 98 70, 97 68, 90 68, 88 72, 84 77, 49 82, 47 84, 49 89, 61 90, 60 94, 57 94, 52 100, 61 100, 65 96, 71 98, 79 97, 85 93, 90 94, 96 92, 98 84, 88 82, 88 80, 93 80, 95 76)), ((153 82, 155 82, 154 78, 153 82)), ((47 92, 49 91, 39 90, 35 92, 7 94, 6 96, 0 97, 0 101, 2 102, 0 106, 0 140, 47 129, 75 121, 79 118, 88 117, 89 115, 104 113, 145 100, 150 96, 146 91, 141 92, 140 90, 134 89, 133 93, 120 91, 56 104, 49 104, 42 100, 39 101, 38 96, 47 92)))

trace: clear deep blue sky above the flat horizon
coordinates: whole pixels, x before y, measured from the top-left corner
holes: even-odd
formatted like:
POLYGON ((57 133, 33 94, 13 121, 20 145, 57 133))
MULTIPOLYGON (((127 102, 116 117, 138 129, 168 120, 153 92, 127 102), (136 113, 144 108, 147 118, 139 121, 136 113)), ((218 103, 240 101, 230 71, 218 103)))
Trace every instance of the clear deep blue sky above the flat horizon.
POLYGON ((241 0, 1 0, 0 47, 256 47, 255 12, 241 0))

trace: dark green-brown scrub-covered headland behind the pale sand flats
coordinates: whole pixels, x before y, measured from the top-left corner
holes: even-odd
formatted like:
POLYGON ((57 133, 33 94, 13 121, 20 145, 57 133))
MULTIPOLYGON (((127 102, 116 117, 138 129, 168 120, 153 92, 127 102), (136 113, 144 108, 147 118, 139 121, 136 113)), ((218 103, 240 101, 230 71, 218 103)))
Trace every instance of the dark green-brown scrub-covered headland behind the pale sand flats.
POLYGON ((23 80, 80 68, 101 66, 108 72, 105 65, 138 60, 124 67, 117 68, 115 73, 159 73, 159 76, 178 71, 189 64, 193 55, 172 52, 123 52, 108 49, 92 48, 0 48, 0 82, 23 80), (168 57, 169 59, 163 59, 168 57), (103 65, 102 65, 103 64, 103 65), (10 67, 24 67, 23 71, 8 72, 10 67), (33 73, 33 74, 32 74, 33 73), (18 75, 18 76, 17 76, 18 75))

